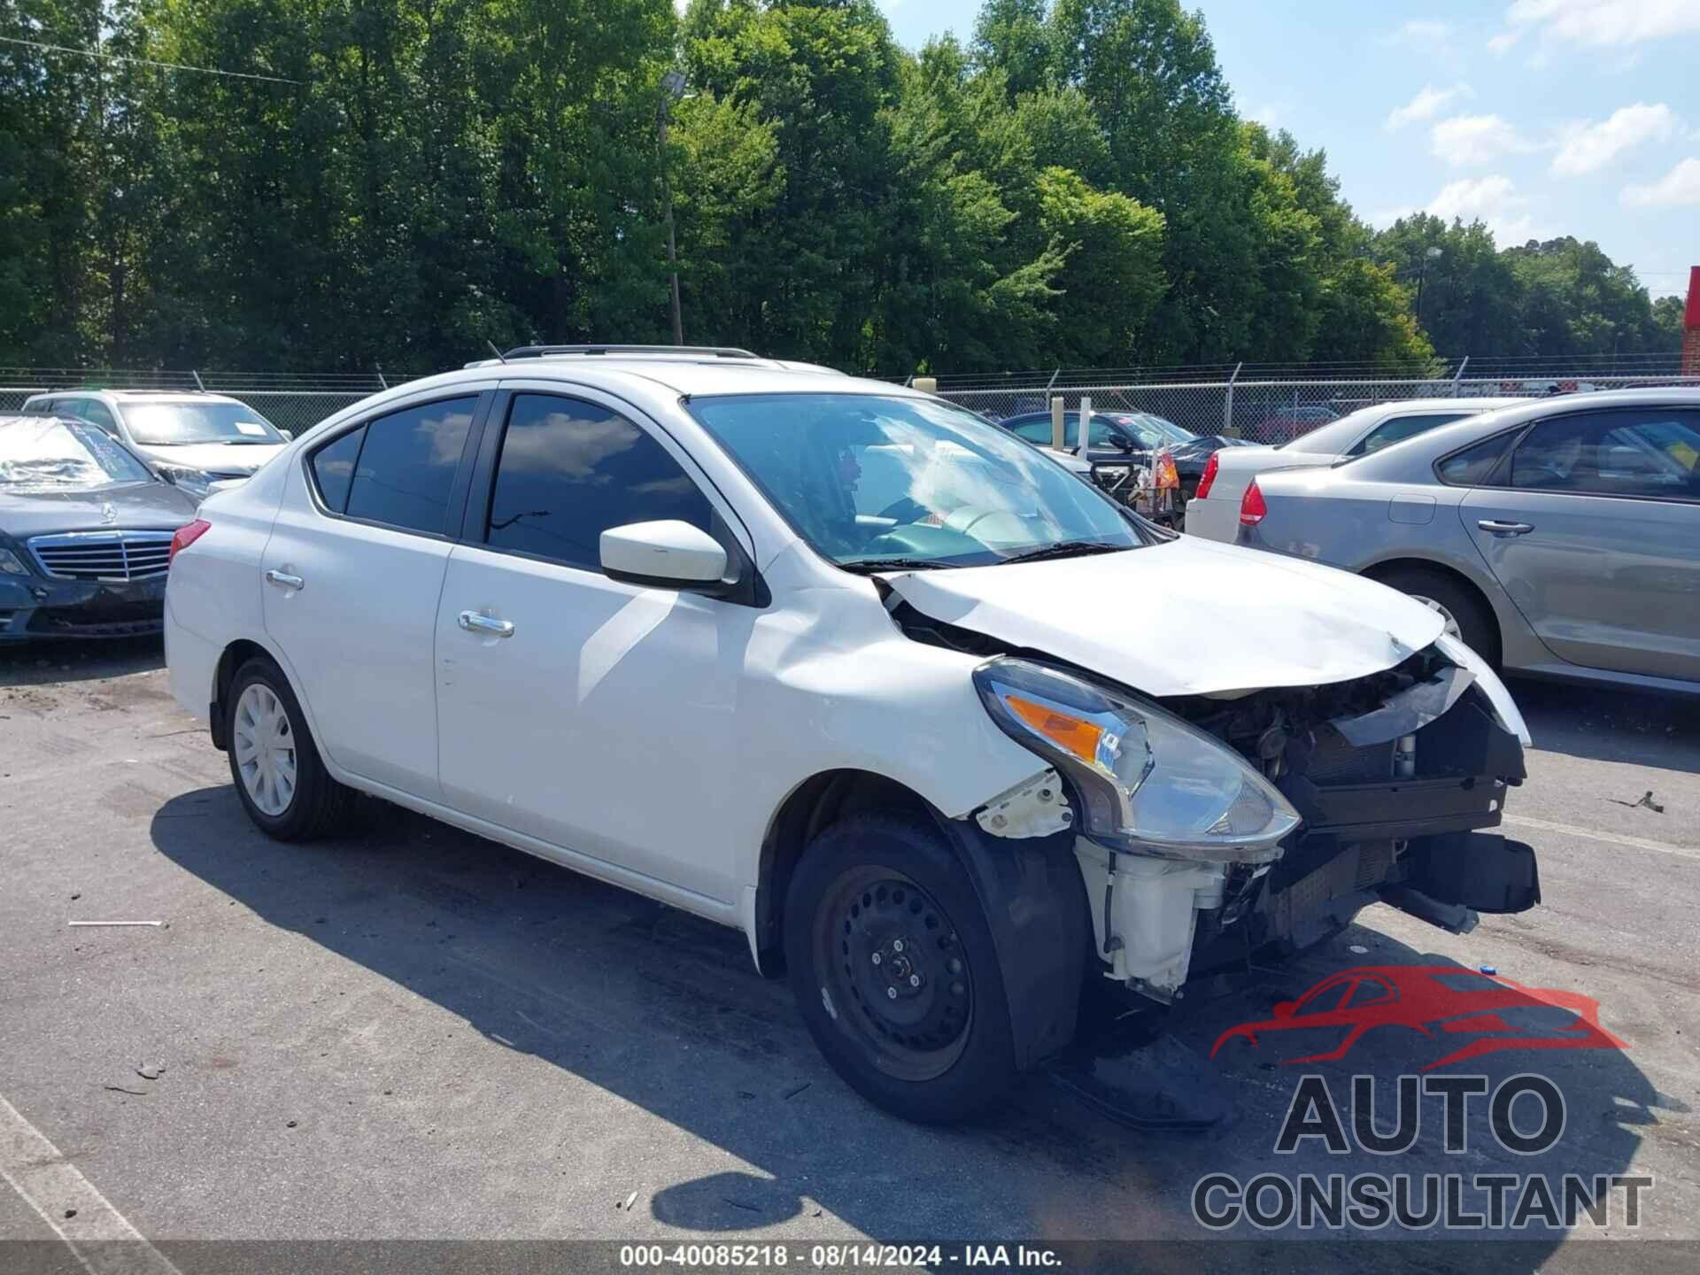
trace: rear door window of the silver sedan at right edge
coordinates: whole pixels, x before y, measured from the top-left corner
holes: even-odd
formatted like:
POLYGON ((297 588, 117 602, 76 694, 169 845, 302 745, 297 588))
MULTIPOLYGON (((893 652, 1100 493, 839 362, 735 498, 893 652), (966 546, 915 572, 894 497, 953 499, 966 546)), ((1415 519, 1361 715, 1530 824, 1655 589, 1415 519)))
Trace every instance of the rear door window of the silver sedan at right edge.
POLYGON ((1624 408, 1544 420, 1511 456, 1511 486, 1700 498, 1700 413, 1624 408))

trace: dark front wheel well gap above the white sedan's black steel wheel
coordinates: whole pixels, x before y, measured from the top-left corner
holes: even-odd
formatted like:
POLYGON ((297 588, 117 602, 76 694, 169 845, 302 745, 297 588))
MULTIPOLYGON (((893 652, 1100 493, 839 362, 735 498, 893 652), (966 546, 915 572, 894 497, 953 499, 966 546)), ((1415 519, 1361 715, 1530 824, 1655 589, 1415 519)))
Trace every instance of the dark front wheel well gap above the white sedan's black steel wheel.
POLYGON ((777 978, 785 969, 785 891, 802 852, 831 824, 865 811, 937 818, 918 792, 870 770, 826 770, 792 789, 779 808, 762 842, 756 877, 755 933, 763 974, 777 978))

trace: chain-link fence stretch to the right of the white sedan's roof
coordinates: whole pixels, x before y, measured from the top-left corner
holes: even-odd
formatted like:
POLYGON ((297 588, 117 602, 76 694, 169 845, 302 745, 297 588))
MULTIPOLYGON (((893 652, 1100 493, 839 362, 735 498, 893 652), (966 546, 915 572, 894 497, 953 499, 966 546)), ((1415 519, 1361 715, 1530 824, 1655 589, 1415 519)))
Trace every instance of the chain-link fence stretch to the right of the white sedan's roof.
POLYGON ((1695 386, 1700 376, 1482 376, 1433 379, 1221 379, 1161 382, 1052 382, 1027 388, 940 388, 940 396, 993 420, 1049 411, 1061 398, 1066 410, 1091 400, 1093 411, 1146 411, 1192 434, 1221 434, 1253 442, 1290 442, 1358 408, 1420 398, 1482 398, 1695 386))

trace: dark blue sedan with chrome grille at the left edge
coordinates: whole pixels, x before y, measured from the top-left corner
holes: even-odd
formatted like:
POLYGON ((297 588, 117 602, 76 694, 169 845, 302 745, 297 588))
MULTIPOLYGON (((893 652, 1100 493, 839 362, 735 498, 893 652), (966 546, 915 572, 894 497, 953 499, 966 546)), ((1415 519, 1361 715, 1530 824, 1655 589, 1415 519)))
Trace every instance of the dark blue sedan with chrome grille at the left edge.
POLYGON ((158 632, 197 502, 71 416, 0 416, 0 643, 158 632))

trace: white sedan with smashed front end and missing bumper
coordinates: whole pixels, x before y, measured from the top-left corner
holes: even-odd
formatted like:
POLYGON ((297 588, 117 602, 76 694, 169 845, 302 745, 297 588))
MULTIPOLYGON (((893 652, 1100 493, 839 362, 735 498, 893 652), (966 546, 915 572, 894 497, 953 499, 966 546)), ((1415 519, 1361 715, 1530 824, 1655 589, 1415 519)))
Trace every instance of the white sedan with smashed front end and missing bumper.
POLYGON ((1440 617, 1163 532, 908 389, 551 350, 320 423, 178 534, 172 688, 250 818, 357 792, 736 926, 838 1073, 960 1117, 1382 898, 1538 899, 1440 617))

